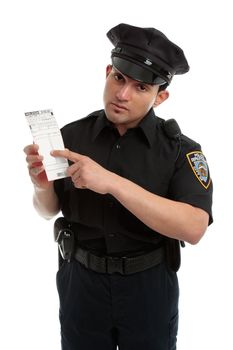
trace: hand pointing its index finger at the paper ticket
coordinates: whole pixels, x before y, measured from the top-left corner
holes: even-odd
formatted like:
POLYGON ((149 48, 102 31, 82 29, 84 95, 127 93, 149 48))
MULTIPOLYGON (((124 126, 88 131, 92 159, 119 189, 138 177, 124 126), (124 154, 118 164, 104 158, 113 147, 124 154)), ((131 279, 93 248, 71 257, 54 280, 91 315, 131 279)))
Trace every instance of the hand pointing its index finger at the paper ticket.
POLYGON ((68 149, 64 151, 54 150, 51 155, 66 158, 74 163, 67 169, 67 175, 71 177, 76 188, 88 188, 100 194, 108 193, 115 174, 106 170, 91 158, 71 152, 68 149))

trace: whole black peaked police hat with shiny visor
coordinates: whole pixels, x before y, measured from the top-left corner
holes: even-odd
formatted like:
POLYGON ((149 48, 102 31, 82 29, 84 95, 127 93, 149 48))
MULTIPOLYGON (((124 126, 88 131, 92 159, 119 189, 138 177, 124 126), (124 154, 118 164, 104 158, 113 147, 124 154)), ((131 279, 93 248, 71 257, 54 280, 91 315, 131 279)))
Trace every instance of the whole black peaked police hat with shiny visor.
POLYGON ((155 28, 121 23, 107 37, 115 46, 112 63, 122 74, 148 84, 170 84, 175 74, 188 72, 182 49, 155 28))

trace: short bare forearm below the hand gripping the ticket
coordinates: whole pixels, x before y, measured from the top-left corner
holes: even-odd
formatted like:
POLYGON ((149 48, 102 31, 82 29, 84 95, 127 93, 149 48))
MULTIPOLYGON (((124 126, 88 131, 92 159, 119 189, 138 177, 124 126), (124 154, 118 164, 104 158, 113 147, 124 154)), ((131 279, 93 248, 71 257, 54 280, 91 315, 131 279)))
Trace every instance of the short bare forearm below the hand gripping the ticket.
POLYGON ((54 191, 53 185, 47 189, 42 189, 34 186, 33 205, 45 219, 51 219, 60 211, 58 197, 54 191))

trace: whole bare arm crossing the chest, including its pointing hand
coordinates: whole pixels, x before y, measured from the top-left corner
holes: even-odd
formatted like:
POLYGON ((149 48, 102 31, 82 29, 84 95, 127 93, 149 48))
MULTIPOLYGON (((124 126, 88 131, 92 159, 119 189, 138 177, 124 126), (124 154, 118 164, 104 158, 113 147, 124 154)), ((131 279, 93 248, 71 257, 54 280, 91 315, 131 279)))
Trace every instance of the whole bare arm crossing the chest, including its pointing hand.
POLYGON ((162 235, 195 244, 208 226, 209 215, 204 210, 157 196, 89 157, 68 149, 53 151, 52 155, 73 162, 67 174, 76 188, 111 194, 145 225, 162 235))

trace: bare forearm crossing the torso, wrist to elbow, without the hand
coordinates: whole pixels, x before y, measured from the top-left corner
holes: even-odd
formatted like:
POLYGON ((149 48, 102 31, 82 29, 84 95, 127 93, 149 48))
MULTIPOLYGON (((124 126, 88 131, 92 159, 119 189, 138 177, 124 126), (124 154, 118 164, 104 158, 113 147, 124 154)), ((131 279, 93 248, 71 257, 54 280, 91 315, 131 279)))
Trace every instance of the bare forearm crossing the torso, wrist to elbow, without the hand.
POLYGON ((157 196, 127 179, 112 176, 109 193, 154 231, 191 244, 203 236, 208 226, 204 210, 157 196))

